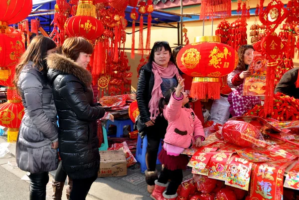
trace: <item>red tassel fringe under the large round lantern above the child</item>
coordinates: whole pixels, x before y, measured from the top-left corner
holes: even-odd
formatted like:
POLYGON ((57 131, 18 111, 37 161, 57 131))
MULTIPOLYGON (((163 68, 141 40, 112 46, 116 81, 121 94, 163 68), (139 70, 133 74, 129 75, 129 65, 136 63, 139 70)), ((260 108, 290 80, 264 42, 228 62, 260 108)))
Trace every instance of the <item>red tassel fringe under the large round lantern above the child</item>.
POLYGON ((190 96, 198 99, 219 99, 220 82, 198 82, 193 78, 190 96))

